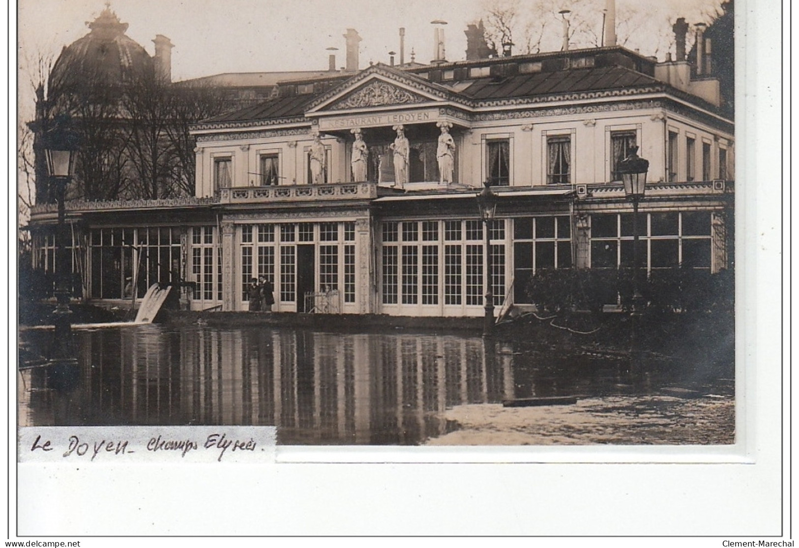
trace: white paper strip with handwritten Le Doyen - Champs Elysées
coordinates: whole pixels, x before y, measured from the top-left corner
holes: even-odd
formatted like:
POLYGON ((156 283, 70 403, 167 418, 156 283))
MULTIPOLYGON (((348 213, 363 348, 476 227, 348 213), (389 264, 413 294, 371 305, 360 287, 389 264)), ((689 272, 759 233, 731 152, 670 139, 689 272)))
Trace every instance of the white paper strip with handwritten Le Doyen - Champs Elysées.
POLYGON ((275 462, 275 427, 22 427, 28 462, 275 462))

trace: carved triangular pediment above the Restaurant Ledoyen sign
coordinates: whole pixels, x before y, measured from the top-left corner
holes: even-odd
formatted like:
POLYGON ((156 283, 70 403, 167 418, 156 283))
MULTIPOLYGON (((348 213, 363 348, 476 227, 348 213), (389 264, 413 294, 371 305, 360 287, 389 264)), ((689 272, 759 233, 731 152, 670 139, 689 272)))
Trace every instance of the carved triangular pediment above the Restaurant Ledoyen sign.
POLYGON ((458 101, 456 95, 415 74, 371 66, 313 101, 307 113, 458 101))

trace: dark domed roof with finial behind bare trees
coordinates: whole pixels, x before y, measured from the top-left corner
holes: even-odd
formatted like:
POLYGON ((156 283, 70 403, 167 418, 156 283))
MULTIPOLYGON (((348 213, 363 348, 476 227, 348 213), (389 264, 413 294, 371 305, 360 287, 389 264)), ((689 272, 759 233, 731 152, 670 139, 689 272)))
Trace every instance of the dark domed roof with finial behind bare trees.
MULTIPOLYGON (((107 6, 107 5, 106 5, 107 6)), ((153 59, 125 35, 128 24, 120 22, 109 7, 93 21, 91 30, 66 46, 50 72, 50 95, 87 85, 117 86, 134 81, 153 69, 153 59)))

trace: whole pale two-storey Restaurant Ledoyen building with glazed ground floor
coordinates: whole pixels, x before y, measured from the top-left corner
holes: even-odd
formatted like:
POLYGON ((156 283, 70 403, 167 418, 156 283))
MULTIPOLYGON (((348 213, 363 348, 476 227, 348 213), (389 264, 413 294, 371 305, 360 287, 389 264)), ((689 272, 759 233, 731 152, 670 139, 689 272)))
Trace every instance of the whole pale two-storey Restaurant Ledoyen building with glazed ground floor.
MULTIPOLYGON (((531 304, 541 269, 631 264, 631 147, 650 162, 647 271, 733 260, 733 121, 686 61, 612 46, 379 64, 272 95, 193 126, 193 197, 67 204, 83 296, 181 281, 188 308, 246 311, 265 276, 276 312, 482 316, 491 284, 499 314, 531 304)), ((54 268, 55 220, 34 208, 36 268, 54 268)))

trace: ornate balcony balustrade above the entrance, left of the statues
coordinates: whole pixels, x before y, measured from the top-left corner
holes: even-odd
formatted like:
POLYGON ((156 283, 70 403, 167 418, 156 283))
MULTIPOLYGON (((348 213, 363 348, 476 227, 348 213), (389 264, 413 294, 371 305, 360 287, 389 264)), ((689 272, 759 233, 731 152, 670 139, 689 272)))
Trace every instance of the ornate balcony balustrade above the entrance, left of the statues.
POLYGON ((220 189, 221 204, 282 201, 368 200, 377 197, 376 183, 330 185, 251 186, 220 189))

